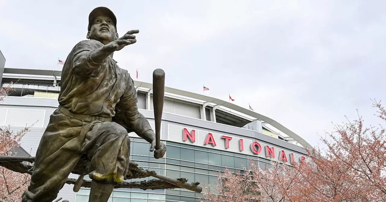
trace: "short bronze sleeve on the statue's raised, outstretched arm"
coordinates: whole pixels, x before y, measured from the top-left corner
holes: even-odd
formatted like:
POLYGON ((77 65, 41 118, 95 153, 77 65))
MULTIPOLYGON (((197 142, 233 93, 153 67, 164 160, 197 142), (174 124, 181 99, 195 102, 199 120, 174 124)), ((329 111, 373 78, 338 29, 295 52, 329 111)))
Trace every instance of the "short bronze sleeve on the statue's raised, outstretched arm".
POLYGON ((75 75, 78 77, 87 77, 103 63, 95 63, 91 60, 91 53, 102 46, 103 43, 97 40, 85 40, 75 45, 73 57, 71 58, 75 75))

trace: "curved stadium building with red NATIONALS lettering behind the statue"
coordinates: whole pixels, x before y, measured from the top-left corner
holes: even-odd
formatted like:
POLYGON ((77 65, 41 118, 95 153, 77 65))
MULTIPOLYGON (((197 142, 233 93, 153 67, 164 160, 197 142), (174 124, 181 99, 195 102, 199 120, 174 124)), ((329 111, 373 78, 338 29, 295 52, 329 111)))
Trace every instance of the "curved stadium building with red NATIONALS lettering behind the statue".
MULTIPOLYGON (((1 53, 1 52, 0 52, 1 53)), ((11 82, 14 91, 0 102, 0 127, 13 130, 33 124, 22 139, 20 150, 35 156, 49 117, 58 107, 61 72, 4 68, 0 54, 0 82, 11 82)), ((166 72, 167 73, 167 72, 166 72)), ((139 111, 154 129, 152 84, 134 81, 138 93, 139 111)), ((230 102, 175 88, 165 88, 161 141, 167 145, 166 155, 154 159, 149 143, 130 133, 130 159, 144 169, 169 177, 185 177, 189 182, 208 184, 216 180, 215 172, 242 169, 249 159, 260 167, 270 159, 299 162, 306 156, 308 144, 291 130, 273 119, 230 102)), ((26 154, 26 155, 28 155, 26 154)), ((69 177, 77 178, 71 174, 69 177)), ((88 176, 85 176, 87 179, 88 176)), ((149 180, 134 179, 137 181, 149 180)), ((129 181, 134 181, 129 180, 129 181)), ((73 192, 66 184, 58 197, 70 202, 88 202, 89 189, 73 192)), ((184 189, 115 189, 110 202, 198 202, 202 194, 184 189)))

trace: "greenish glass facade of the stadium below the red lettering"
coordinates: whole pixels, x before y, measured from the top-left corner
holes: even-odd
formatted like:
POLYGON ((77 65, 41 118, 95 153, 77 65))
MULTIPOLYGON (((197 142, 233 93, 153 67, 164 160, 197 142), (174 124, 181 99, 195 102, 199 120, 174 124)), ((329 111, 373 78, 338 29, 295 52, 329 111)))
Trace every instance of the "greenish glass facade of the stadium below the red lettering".
MULTIPOLYGON (((225 167, 234 172, 242 172, 242 166, 248 166, 249 159, 257 160, 260 167, 269 165, 269 160, 257 156, 242 155, 232 152, 196 147, 166 141, 166 155, 161 159, 155 159, 149 151, 150 144, 141 138, 130 137, 130 159, 140 167, 154 170, 157 174, 173 178, 184 177, 189 182, 200 182, 200 185, 217 181, 217 171, 225 170, 225 167)), ((88 179, 88 176, 85 176, 88 179)), ((128 182, 150 180, 154 177, 130 179, 128 182)), ((88 202, 90 189, 82 188, 76 194, 76 202, 88 202)), ((114 189, 109 202, 198 202, 200 193, 185 189, 114 189)))

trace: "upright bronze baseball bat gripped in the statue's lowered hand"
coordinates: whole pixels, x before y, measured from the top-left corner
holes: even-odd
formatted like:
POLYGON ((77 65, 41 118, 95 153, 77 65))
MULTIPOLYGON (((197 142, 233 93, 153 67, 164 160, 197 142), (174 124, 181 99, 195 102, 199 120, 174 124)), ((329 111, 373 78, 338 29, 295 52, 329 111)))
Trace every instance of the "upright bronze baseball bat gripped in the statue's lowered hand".
POLYGON ((161 139, 161 119, 164 108, 165 96, 165 72, 162 69, 156 69, 153 72, 153 108, 154 122, 156 124, 156 149, 159 149, 161 139))

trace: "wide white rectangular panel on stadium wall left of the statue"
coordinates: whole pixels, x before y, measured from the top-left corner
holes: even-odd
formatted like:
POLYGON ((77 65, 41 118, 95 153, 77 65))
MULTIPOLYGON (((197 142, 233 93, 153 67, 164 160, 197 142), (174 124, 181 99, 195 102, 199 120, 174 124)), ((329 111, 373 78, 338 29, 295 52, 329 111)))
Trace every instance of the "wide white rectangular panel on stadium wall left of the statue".
POLYGON ((5 125, 29 127, 43 127, 46 110, 37 109, 8 109, 5 125))

